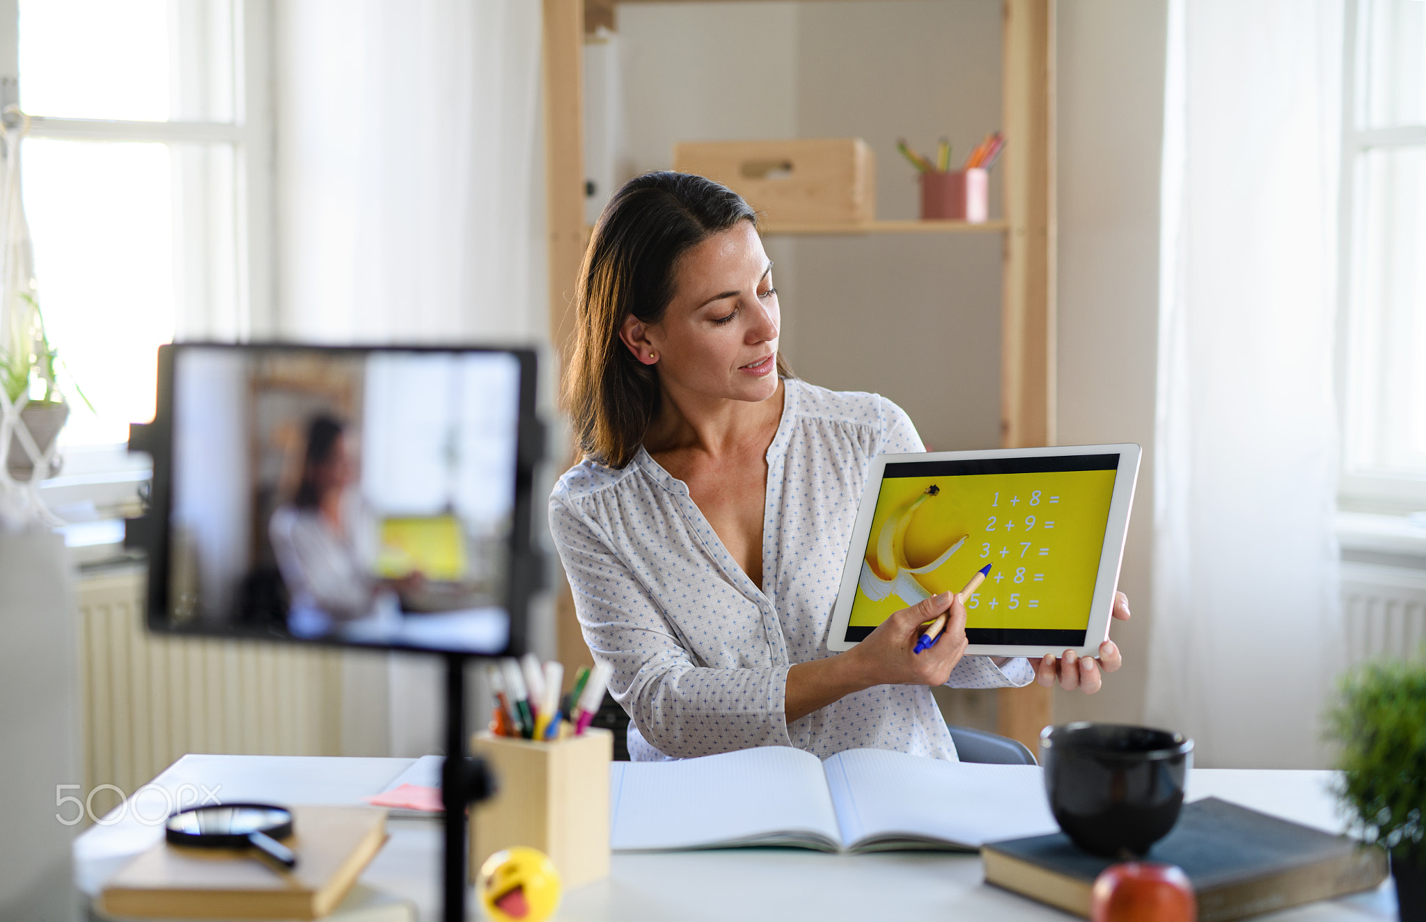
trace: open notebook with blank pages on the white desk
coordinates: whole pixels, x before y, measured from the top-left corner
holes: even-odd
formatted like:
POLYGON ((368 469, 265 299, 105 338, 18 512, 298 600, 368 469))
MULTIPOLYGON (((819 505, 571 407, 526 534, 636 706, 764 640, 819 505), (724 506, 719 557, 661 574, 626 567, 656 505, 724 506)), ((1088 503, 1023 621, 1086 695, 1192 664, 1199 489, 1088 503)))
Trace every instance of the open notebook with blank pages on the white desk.
POLYGON ((615 762, 609 784, 615 851, 977 849, 1058 829, 1034 765, 886 750, 848 750, 826 762, 789 747, 615 762))

